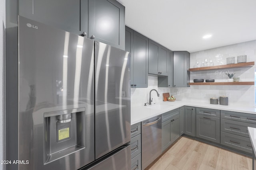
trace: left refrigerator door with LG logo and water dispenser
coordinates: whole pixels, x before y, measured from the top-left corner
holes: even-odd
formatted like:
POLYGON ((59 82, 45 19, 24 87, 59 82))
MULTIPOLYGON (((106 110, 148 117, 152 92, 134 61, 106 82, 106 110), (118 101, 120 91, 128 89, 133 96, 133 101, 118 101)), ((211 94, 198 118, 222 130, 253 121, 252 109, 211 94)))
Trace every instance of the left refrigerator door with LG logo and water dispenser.
POLYGON ((94 160, 94 42, 18 18, 19 170, 94 160))

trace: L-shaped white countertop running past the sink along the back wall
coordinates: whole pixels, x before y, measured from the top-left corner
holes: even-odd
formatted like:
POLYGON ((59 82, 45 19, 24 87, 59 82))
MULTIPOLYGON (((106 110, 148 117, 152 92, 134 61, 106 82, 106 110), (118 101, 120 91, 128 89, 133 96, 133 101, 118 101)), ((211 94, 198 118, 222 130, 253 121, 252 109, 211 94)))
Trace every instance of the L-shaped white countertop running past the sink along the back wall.
POLYGON ((209 108, 209 109, 218 109, 218 110, 256 114, 256 107, 243 107, 243 106, 232 106, 232 105, 224 106, 219 104, 188 102, 188 101, 179 101, 179 100, 176 100, 175 102, 168 102, 168 101, 159 102, 156 105, 160 105, 160 106, 156 108, 150 108, 150 106, 148 106, 147 104, 147 106, 142 105, 142 106, 131 107, 131 125, 182 106, 203 107, 203 108, 209 108))

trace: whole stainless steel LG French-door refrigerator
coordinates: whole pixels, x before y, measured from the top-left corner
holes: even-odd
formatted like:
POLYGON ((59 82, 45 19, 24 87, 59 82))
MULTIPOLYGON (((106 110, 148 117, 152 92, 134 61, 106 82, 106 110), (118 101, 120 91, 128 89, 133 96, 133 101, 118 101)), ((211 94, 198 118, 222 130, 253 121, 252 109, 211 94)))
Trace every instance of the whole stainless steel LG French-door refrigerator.
POLYGON ((21 16, 17 30, 6 36, 18 42, 6 53, 6 158, 20 162, 6 168, 128 170, 129 53, 21 16))

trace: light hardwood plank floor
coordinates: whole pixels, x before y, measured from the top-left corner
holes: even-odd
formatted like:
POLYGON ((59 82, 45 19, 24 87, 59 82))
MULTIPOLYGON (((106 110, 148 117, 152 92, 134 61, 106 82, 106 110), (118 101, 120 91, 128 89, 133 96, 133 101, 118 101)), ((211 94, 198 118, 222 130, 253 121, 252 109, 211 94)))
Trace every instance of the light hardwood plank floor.
POLYGON ((252 159, 181 137, 149 170, 252 170, 252 159))

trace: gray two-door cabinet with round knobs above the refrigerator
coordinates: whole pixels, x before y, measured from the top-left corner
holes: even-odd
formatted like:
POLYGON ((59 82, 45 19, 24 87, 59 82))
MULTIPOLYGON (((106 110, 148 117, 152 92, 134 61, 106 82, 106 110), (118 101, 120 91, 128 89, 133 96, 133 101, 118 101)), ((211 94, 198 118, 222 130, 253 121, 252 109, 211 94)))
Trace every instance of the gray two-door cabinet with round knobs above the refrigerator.
POLYGON ((124 50, 125 7, 116 0, 19 0, 18 14, 124 50))

